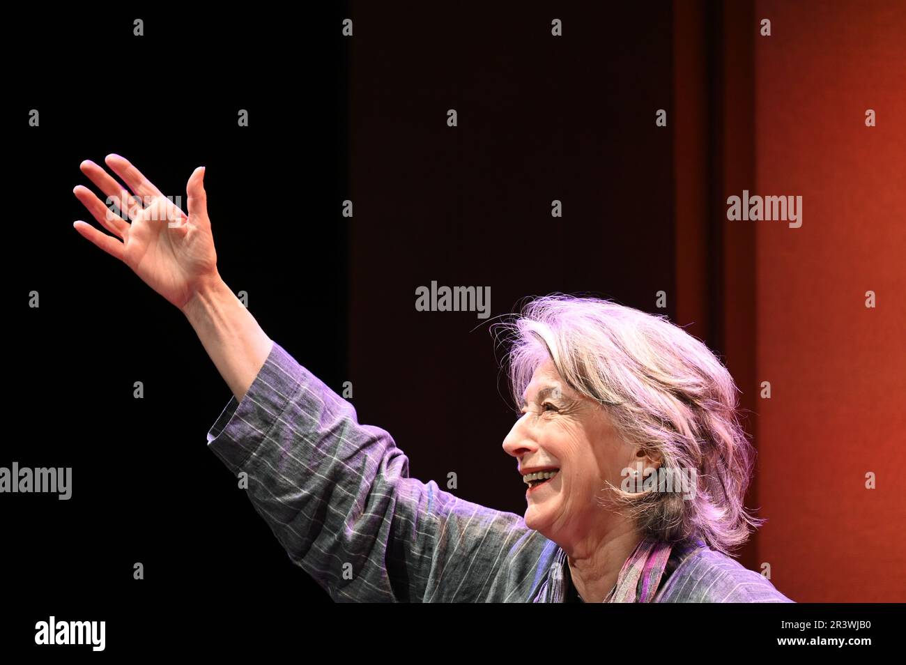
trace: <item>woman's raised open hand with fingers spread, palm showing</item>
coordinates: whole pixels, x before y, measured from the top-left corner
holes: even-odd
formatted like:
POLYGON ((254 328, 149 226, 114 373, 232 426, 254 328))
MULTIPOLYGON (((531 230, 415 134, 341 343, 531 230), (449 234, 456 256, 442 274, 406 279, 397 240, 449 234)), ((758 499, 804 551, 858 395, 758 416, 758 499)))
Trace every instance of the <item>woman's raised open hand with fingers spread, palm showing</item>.
POLYGON ((107 164, 126 181, 144 207, 134 202, 128 192, 101 167, 85 161, 82 162, 82 171, 112 200, 118 204, 125 202, 120 207, 128 208, 123 210, 123 216, 130 218, 131 223, 113 215, 90 189, 76 188, 76 197, 121 242, 84 222, 77 222, 76 229, 95 245, 129 265, 142 281, 170 303, 182 308, 196 284, 217 271, 217 253, 198 169, 189 178, 187 216, 125 159, 111 155, 107 164))

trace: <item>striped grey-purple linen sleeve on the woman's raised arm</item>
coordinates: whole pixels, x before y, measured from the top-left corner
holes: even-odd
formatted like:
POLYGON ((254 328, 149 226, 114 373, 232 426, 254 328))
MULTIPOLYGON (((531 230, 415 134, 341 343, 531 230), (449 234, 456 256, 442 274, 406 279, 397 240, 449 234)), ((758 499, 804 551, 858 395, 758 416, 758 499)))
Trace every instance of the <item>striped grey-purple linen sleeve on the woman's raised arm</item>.
POLYGON ((410 478, 390 434, 360 425, 276 342, 207 442, 246 474, 257 513, 334 601, 482 601, 499 573, 526 576, 537 563, 522 517, 410 478))

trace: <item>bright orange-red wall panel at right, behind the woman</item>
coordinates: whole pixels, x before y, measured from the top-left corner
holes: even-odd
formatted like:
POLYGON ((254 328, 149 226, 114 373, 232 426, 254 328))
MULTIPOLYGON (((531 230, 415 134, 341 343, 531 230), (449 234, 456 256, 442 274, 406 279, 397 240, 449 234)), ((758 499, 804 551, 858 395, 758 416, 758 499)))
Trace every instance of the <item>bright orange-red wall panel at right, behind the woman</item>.
POLYGON ((757 229, 758 557, 798 602, 903 602, 906 4, 755 8, 752 193, 803 197, 726 222, 757 229))

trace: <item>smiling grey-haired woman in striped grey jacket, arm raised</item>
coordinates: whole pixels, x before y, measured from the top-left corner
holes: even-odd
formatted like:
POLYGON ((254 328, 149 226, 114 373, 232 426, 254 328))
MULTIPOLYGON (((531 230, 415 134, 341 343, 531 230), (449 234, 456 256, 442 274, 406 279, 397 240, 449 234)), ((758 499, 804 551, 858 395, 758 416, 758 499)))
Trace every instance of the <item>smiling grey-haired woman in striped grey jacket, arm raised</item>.
POLYGON ((233 391, 208 447, 335 601, 791 602, 728 556, 760 523, 743 506, 753 451, 728 371, 686 332, 592 298, 528 304, 504 325, 525 517, 478 506, 409 477, 390 434, 265 335, 217 273, 203 168, 186 216, 106 163, 141 202, 127 221, 77 187, 112 236, 73 226, 185 313, 233 391))

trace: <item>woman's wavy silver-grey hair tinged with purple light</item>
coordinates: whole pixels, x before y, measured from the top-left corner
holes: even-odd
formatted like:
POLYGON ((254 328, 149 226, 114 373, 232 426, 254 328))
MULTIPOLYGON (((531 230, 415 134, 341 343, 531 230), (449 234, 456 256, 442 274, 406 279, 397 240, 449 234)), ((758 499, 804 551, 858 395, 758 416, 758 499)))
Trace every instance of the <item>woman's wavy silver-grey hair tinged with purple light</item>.
POLYGON ((765 522, 743 505, 756 452, 739 423, 736 383, 703 342, 666 315, 551 294, 495 327, 504 332, 517 406, 535 369, 550 359, 573 390, 606 410, 628 443, 670 471, 697 469, 687 499, 608 483, 618 512, 643 535, 672 543, 699 537, 730 554, 747 541, 750 527, 765 522))

